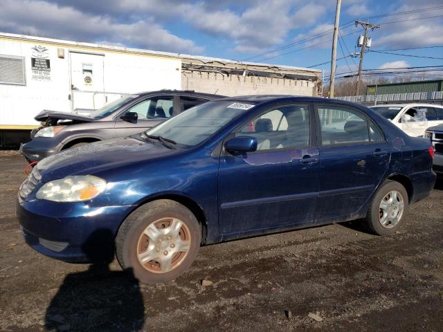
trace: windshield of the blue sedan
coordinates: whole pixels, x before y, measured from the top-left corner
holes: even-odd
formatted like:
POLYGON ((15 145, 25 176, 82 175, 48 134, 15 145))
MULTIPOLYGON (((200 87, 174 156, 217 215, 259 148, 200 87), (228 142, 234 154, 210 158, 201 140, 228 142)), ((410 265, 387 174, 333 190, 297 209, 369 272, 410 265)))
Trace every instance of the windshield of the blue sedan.
POLYGON ((225 124, 254 107, 251 102, 214 101, 201 104, 146 131, 188 147, 198 145, 225 124))

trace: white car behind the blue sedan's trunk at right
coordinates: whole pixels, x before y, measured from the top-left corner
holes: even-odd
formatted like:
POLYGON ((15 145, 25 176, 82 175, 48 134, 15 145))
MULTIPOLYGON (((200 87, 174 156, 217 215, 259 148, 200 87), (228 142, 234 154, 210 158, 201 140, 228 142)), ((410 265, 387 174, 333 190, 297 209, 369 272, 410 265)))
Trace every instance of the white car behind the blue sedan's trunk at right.
POLYGON ((370 107, 409 136, 422 137, 428 127, 443 123, 443 106, 437 104, 383 104, 370 107))

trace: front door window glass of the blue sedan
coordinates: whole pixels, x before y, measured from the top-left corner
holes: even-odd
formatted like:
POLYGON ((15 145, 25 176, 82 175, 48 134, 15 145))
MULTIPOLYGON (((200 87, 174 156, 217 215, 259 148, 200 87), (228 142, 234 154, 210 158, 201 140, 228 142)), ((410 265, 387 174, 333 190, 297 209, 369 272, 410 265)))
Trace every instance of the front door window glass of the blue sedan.
POLYGON ((309 146, 309 108, 294 105, 273 109, 242 127, 236 136, 257 138, 257 151, 309 146))

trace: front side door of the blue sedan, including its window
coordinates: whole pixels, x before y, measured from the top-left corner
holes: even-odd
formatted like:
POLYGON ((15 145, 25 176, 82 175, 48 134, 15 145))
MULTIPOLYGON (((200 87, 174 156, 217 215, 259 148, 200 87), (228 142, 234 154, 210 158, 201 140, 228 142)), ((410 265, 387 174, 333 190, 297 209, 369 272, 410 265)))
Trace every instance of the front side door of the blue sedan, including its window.
POLYGON ((318 149, 307 104, 275 107, 245 122, 233 136, 257 138, 257 151, 222 154, 219 220, 225 237, 314 222, 318 149))

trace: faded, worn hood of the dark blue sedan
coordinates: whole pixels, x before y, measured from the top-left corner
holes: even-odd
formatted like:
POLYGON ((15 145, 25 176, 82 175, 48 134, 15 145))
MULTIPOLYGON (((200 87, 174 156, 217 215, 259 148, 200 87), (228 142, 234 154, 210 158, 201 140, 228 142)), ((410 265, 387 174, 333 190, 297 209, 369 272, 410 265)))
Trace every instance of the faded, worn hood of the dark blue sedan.
POLYGON ((138 162, 179 154, 181 149, 168 149, 160 142, 145 142, 134 137, 93 142, 67 149, 44 158, 37 164, 42 181, 51 181, 68 175, 97 174, 138 162))

